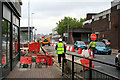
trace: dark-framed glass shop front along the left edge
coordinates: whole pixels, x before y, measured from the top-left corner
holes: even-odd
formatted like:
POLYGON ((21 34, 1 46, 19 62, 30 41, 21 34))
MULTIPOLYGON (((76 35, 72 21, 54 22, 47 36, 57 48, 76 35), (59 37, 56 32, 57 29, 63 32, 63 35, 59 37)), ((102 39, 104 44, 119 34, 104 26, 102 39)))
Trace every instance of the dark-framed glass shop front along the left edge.
POLYGON ((0 78, 6 77, 19 61, 20 9, 19 2, 0 1, 0 78))

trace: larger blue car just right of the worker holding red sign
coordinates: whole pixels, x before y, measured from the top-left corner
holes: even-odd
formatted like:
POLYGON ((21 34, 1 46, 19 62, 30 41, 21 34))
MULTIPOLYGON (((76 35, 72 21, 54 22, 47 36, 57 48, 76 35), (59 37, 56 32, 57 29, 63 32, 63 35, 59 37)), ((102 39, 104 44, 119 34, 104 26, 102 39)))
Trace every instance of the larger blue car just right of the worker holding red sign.
POLYGON ((103 53, 103 54, 108 54, 111 55, 111 49, 103 42, 96 42, 96 50, 95 53, 103 53))

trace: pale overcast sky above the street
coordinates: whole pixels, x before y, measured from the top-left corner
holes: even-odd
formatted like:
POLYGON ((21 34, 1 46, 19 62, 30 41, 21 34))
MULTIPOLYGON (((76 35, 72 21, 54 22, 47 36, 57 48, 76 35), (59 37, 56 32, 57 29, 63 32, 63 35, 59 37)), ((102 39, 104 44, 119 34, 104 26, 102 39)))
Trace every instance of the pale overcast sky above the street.
POLYGON ((49 34, 65 16, 78 20, 86 18, 87 13, 109 9, 112 0, 22 0, 21 27, 28 26, 28 1, 30 26, 37 29, 37 34, 49 34))

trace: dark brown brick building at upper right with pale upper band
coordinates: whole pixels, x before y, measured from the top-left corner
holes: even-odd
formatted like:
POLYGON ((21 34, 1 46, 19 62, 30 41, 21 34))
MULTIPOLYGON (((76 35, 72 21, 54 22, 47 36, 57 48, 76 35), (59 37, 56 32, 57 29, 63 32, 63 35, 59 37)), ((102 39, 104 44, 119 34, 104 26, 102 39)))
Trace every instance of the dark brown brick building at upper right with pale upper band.
POLYGON ((100 13, 87 14, 84 28, 92 28, 98 40, 108 39, 113 49, 120 49, 120 0, 111 2, 111 8, 100 13))

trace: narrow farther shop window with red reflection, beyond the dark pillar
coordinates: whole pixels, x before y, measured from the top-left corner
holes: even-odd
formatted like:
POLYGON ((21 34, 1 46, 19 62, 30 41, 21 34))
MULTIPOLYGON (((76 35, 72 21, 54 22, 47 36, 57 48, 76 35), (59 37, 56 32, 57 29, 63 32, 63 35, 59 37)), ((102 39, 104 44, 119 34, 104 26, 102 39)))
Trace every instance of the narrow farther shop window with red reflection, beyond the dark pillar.
POLYGON ((13 25, 13 58, 18 55, 18 27, 13 25))

